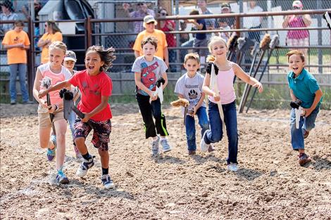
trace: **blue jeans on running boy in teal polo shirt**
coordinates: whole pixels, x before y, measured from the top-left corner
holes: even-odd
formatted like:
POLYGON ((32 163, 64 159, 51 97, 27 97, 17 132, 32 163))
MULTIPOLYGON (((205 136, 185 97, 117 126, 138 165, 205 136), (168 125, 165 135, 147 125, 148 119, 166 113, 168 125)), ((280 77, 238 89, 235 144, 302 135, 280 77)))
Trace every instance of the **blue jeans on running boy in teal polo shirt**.
POLYGON ((308 117, 300 117, 299 129, 295 127, 295 112, 294 108, 291 110, 291 143, 293 150, 304 149, 304 130, 311 131, 315 127, 316 117, 320 112, 320 107, 317 107, 311 112, 308 117))

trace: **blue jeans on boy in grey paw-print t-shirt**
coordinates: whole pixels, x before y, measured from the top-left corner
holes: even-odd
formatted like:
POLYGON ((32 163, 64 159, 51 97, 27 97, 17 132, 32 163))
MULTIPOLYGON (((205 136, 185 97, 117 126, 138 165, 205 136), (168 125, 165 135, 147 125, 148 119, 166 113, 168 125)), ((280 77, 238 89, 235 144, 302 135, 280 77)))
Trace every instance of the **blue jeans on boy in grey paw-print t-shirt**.
MULTIPOLYGON (((204 132, 209 129, 209 122, 206 112, 206 107, 201 106, 196 111, 196 116, 199 119, 199 125, 201 127, 201 137, 204 135, 204 132)), ((196 150, 196 138, 195 138, 195 119, 194 117, 187 115, 185 121, 186 129, 186 139, 187 139, 187 149, 196 150)))

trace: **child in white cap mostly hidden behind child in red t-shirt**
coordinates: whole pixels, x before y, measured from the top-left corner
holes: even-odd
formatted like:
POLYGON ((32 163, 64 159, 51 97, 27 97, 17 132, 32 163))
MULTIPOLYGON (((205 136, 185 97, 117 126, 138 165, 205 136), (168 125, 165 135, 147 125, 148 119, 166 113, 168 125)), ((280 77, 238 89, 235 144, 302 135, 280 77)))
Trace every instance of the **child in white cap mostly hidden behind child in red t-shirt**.
MULTIPOLYGON (((74 51, 67 51, 65 53, 63 65, 65 68, 67 68, 70 71, 72 76, 75 75, 75 73, 77 72, 76 70, 73 70, 76 62, 77 62, 76 53, 74 51)), ((78 91, 78 88, 75 88, 74 101, 76 101, 79 98, 79 96, 80 96, 80 92, 78 91)), ((73 135, 73 150, 75 151, 76 158, 81 159, 82 155, 80 154, 80 151, 78 150, 75 144, 75 119, 76 119, 76 114, 75 112, 71 111, 68 118, 68 123, 71 130, 71 134, 73 135)))

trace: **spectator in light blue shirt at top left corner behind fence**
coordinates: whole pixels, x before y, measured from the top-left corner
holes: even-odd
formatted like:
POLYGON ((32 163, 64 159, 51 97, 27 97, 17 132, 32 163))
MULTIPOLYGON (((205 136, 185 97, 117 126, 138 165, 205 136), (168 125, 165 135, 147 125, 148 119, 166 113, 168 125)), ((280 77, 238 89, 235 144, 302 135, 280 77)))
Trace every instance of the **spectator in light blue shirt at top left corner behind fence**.
MULTIPOLYGON (((10 0, 1 2, 0 20, 18 20, 18 15, 13 13, 13 3, 10 0)), ((13 24, 2 24, 0 25, 0 34, 5 34, 8 30, 13 29, 13 24)))

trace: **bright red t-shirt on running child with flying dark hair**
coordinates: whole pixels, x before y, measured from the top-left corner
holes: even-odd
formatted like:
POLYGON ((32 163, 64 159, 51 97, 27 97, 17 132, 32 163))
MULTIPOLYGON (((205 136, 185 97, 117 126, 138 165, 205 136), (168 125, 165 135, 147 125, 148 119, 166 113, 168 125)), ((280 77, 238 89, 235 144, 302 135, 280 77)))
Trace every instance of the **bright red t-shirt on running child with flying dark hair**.
MULTIPOLYGON (((70 84, 78 86, 82 93, 80 103, 77 108, 82 112, 92 112, 101 103, 101 96, 111 96, 113 89, 113 83, 111 78, 106 75, 105 72, 100 72, 96 76, 88 74, 87 70, 77 72, 73 77, 69 79, 70 84)), ((93 117, 92 120, 101 122, 111 119, 111 106, 108 105, 106 108, 101 110, 93 117)))

